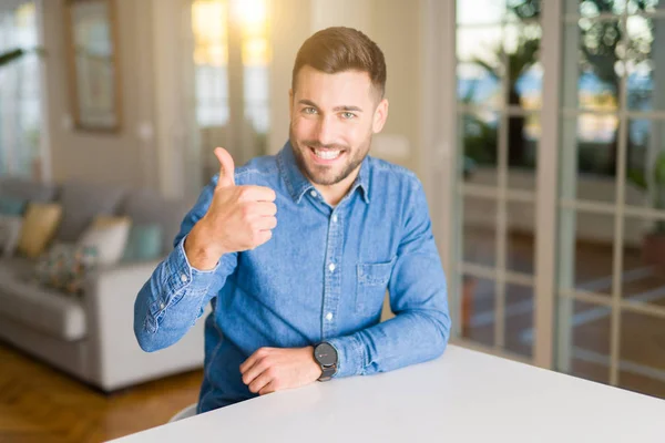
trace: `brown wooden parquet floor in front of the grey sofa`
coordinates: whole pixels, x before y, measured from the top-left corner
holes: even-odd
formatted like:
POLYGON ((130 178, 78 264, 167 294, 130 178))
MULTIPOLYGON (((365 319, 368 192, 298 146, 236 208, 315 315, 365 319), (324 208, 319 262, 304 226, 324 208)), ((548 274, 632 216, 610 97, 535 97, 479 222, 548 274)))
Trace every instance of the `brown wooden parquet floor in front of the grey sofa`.
POLYGON ((0 443, 103 442, 196 402, 202 371, 104 395, 0 343, 0 443))

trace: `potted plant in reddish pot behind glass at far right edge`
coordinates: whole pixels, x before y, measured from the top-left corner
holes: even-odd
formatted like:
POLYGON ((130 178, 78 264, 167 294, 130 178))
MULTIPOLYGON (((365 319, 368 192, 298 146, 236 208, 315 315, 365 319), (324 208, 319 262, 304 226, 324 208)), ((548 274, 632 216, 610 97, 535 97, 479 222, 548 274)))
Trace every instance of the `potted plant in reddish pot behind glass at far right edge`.
MULTIPOLYGON (((652 198, 654 209, 665 210, 665 152, 662 152, 652 172, 652 198)), ((646 183, 643 187, 647 189, 646 183)), ((665 270, 665 220, 656 220, 653 229, 644 236, 642 258, 648 265, 665 270)))

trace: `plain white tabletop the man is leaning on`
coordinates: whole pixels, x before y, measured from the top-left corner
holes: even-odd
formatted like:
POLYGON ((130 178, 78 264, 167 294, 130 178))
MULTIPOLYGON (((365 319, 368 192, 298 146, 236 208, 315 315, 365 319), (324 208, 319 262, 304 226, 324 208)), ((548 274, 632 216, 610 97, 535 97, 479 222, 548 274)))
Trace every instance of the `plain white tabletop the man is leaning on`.
POLYGON ((665 442, 665 401, 449 346, 116 442, 665 442))

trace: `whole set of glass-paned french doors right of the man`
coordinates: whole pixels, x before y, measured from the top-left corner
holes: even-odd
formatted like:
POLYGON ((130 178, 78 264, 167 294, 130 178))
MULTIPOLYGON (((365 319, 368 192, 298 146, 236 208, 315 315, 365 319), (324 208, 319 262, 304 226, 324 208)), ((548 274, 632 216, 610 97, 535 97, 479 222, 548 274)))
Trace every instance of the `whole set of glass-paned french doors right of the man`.
POLYGON ((454 3, 453 342, 665 398, 665 2, 454 3))

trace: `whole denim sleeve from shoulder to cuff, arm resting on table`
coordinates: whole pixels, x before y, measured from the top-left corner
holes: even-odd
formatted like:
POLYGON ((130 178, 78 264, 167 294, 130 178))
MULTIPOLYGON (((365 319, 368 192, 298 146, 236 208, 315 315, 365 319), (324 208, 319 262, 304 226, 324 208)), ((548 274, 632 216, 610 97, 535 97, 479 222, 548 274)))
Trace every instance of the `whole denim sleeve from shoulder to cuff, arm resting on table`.
POLYGON ((397 316, 328 340, 338 352, 336 377, 390 371, 434 359, 446 350, 450 337, 448 287, 420 183, 407 202, 409 216, 388 287, 397 316))

